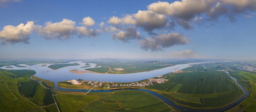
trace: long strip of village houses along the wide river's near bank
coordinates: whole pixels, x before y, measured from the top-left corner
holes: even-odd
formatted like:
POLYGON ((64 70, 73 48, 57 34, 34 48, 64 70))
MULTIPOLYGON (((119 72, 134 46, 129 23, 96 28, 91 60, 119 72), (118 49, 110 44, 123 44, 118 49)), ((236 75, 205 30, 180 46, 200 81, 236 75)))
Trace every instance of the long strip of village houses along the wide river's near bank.
POLYGON ((71 82, 72 84, 88 84, 90 86, 95 86, 95 87, 144 87, 144 86, 149 86, 155 83, 164 83, 167 82, 168 79, 164 78, 149 78, 144 82, 98 82, 98 81, 88 81, 88 80, 83 80, 83 79, 78 79, 78 80, 71 80, 68 82, 71 82))

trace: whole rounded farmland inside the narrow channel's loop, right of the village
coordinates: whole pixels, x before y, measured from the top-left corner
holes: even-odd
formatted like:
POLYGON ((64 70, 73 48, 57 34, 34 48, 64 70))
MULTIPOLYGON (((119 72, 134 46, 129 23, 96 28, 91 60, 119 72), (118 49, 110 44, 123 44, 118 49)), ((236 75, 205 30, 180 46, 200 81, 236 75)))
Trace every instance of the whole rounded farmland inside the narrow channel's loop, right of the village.
POLYGON ((239 86, 223 71, 182 72, 166 78, 167 82, 147 88, 156 89, 157 93, 186 107, 216 108, 243 95, 239 86))

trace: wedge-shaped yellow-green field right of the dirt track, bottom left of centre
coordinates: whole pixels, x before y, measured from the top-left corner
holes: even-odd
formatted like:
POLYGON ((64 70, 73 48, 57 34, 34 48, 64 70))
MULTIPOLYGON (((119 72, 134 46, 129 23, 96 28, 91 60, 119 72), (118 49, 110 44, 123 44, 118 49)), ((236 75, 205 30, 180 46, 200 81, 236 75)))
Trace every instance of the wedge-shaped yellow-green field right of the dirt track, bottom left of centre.
POLYGON ((60 111, 62 112, 75 112, 82 108, 85 104, 95 100, 98 96, 90 95, 73 95, 73 94, 60 94, 54 96, 60 111))

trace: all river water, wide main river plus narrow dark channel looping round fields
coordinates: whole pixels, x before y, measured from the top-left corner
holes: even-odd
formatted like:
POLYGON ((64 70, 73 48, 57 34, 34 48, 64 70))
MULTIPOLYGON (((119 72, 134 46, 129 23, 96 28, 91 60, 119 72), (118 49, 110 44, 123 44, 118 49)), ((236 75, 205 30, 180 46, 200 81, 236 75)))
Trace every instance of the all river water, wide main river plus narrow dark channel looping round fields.
MULTIPOLYGON (((43 64, 36 64, 36 65, 32 65, 32 66, 20 64, 20 65, 26 66, 26 67, 20 68, 20 67, 15 67, 12 65, 13 68, 5 68, 5 66, 4 66, 4 67, 1 67, 1 69, 8 69, 8 70, 31 69, 31 70, 36 71, 36 74, 35 74, 36 77, 54 81, 55 88, 57 88, 57 89, 87 92, 89 90, 60 88, 60 87, 57 87, 57 82, 67 81, 67 80, 71 80, 71 79, 84 79, 84 80, 101 81, 101 82, 136 82, 136 81, 156 77, 159 75, 163 75, 168 72, 181 70, 181 69, 187 68, 193 64, 200 64, 200 63, 179 64, 179 65, 175 65, 175 66, 171 66, 171 67, 152 70, 149 72, 139 72, 139 73, 129 73, 129 74, 100 74, 100 73, 76 74, 76 73, 71 73, 69 71, 73 70, 73 69, 77 69, 79 71, 84 70, 86 68, 80 68, 80 67, 84 67, 85 63, 83 63, 81 61, 70 62, 70 63, 79 63, 80 65, 68 66, 68 67, 59 68, 58 70, 52 70, 51 68, 48 68, 48 66, 50 66, 53 63, 51 63, 51 64, 47 63, 46 66, 44 66, 44 67, 41 66, 43 64)), ((90 63, 90 65, 91 65, 91 67, 88 67, 88 68, 95 67, 94 63, 90 63)), ((171 100, 169 100, 166 97, 161 96, 153 91, 149 91, 149 90, 145 90, 145 89, 137 89, 137 90, 145 91, 149 94, 152 94, 153 96, 158 97, 159 99, 166 102, 168 105, 171 105, 172 107, 174 107, 180 111, 186 110, 188 112, 223 112, 223 111, 232 109, 233 107, 235 107, 236 105, 241 103, 243 100, 245 100, 245 98, 249 95, 249 92, 246 91, 243 86, 238 84, 237 80, 229 75, 229 72, 226 72, 226 73, 230 78, 235 80, 236 84, 242 89, 242 91, 244 91, 244 95, 241 96, 239 99, 235 100, 234 102, 232 102, 231 104, 226 105, 224 107, 216 108, 216 109, 191 109, 191 108, 187 108, 184 106, 176 105, 171 100)), ((116 90, 92 90, 90 92, 109 92, 109 91, 116 91, 116 90)))

